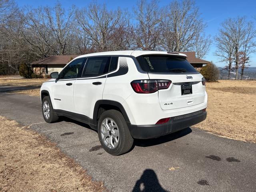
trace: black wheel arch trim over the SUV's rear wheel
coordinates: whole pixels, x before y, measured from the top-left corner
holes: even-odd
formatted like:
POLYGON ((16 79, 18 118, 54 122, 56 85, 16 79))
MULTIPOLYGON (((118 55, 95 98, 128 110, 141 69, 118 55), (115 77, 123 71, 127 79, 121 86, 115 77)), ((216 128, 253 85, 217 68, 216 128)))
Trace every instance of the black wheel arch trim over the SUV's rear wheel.
POLYGON ((98 100, 93 110, 93 124, 98 123, 100 114, 106 110, 115 109, 122 113, 126 122, 130 123, 128 115, 121 103, 112 100, 98 100))

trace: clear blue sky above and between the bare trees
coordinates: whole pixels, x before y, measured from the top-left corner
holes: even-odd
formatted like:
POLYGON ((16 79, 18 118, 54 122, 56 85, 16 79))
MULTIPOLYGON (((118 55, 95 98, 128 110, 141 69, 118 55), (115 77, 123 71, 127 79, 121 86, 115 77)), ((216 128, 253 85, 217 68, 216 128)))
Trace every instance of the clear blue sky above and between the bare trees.
MULTIPOLYGON (((53 6, 57 1, 55 0, 17 0, 19 6, 30 5, 37 7, 40 5, 53 6)), ((90 0, 59 0, 59 2, 68 8, 71 5, 78 7, 86 6, 90 0)), ((132 11, 132 7, 136 6, 137 0, 98 0, 98 3, 106 3, 110 9, 117 7, 127 8, 132 11)), ((171 0, 160 0, 159 6, 169 4, 171 0)), ((236 16, 247 16, 249 20, 253 20, 252 16, 256 17, 256 1, 255 0, 196 0, 199 6, 202 18, 207 23, 206 35, 214 37, 218 32, 220 23, 226 18, 234 18, 236 16)), ((254 20, 256 24, 256 20, 254 20)), ((215 51, 214 41, 208 54, 204 57, 205 60, 213 61, 217 66, 224 66, 224 63, 218 62, 219 58, 214 56, 215 51)), ((256 67, 256 54, 250 56, 250 65, 256 67)))

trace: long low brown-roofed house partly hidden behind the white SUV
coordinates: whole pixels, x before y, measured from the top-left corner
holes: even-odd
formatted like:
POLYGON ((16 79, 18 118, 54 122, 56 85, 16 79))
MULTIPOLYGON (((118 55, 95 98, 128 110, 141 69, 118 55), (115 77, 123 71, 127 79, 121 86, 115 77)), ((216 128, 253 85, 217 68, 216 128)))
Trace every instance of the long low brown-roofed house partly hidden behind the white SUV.
MULTIPOLYGON (((197 70, 200 70, 203 65, 210 63, 209 61, 196 58, 196 52, 180 53, 186 54, 188 56, 188 62, 197 70)), ((31 65, 36 74, 50 74, 51 72, 60 72, 71 59, 77 56, 79 55, 53 55, 42 60, 34 61, 31 65)))

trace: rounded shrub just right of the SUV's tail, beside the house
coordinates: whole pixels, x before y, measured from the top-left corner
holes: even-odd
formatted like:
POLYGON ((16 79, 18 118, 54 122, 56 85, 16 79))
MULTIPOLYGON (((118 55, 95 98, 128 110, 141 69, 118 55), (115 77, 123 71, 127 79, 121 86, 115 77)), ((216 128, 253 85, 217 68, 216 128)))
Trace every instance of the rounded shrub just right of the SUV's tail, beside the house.
POLYGON ((200 73, 208 82, 218 81, 220 75, 218 67, 213 62, 210 62, 206 66, 203 66, 202 69, 200 70, 200 73))

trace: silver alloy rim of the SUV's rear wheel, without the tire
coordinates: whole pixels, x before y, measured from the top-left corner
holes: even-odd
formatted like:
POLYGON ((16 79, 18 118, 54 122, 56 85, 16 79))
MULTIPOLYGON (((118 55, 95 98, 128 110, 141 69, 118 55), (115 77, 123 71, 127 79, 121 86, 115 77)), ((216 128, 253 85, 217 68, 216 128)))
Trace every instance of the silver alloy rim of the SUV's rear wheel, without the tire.
POLYGON ((100 126, 100 135, 105 146, 116 148, 119 142, 119 130, 116 122, 111 118, 105 118, 100 126))

